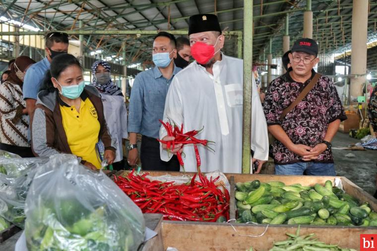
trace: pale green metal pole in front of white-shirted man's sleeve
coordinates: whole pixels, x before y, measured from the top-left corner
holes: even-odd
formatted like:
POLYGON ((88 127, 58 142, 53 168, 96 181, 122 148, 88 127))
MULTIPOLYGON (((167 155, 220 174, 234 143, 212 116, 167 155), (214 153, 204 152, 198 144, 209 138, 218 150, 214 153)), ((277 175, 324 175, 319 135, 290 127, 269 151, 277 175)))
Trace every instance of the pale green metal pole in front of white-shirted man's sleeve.
POLYGON ((250 174, 251 167, 251 96, 252 96, 252 3, 244 0, 244 105, 242 125, 242 173, 250 174))

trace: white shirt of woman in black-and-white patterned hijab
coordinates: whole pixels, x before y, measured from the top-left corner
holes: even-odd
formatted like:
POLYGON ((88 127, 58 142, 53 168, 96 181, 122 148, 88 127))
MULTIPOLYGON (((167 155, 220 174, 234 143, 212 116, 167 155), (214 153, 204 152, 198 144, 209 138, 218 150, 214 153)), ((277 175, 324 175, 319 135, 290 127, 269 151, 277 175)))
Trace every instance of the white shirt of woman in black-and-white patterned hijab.
POLYGON ((114 162, 123 160, 122 138, 127 138, 127 110, 123 96, 101 93, 106 124, 109 128, 113 145, 117 149, 114 162))

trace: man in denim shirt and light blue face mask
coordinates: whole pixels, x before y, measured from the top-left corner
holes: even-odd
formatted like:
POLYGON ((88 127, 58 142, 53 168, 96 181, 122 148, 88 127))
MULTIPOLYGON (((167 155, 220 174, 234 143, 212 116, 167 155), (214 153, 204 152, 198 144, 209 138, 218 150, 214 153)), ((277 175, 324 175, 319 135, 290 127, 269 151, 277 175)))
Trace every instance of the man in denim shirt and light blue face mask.
POLYGON ((155 67, 140 72, 133 83, 129 103, 127 146, 129 165, 137 161, 136 135, 140 133, 140 158, 144 170, 179 171, 177 156, 169 162, 160 159, 160 122, 164 115, 165 99, 173 77, 181 70, 174 64, 177 58, 174 35, 160 32, 153 42, 152 51, 155 67))

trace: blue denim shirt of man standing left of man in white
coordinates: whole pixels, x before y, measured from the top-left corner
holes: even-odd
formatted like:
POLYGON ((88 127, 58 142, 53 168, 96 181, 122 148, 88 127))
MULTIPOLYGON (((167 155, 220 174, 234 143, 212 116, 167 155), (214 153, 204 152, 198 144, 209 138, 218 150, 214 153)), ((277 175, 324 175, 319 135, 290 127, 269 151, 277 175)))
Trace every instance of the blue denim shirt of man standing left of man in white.
POLYGON ((166 94, 180 70, 174 66, 171 79, 163 77, 157 66, 137 74, 129 101, 128 132, 159 138, 161 124, 158 120, 164 116, 166 94))

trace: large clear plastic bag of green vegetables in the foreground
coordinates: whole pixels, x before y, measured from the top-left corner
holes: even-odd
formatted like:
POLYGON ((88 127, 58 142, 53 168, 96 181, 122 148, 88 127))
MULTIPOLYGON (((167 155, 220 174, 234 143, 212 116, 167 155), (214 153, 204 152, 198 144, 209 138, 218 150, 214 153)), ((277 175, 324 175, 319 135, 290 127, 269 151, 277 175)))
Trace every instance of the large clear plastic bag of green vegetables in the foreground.
POLYGON ((29 251, 130 251, 144 240, 141 210, 103 172, 54 155, 34 177, 25 205, 29 251))

